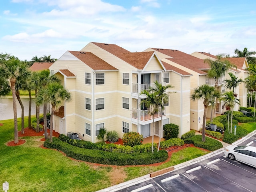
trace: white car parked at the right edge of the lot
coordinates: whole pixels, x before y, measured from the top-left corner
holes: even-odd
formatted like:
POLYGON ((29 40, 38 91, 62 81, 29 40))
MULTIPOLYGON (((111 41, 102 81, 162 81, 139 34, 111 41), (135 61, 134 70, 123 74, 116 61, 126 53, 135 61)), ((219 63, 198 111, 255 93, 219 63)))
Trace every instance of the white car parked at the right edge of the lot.
POLYGON ((231 160, 237 160, 256 168, 256 147, 228 146, 224 154, 231 160))

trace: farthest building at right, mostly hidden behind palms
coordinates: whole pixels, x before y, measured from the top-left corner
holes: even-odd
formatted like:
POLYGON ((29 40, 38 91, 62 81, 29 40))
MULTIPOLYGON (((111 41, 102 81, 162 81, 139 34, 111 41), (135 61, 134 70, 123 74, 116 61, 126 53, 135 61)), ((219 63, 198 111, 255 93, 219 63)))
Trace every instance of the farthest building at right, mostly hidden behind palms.
MULTIPOLYGON (((190 54, 192 56, 195 56, 200 59, 212 59, 215 60, 217 57, 215 55, 211 55, 209 53, 205 52, 194 52, 190 54)), ((248 76, 248 62, 245 57, 225 57, 223 58, 225 60, 230 61, 232 64, 235 64, 237 66, 237 70, 234 69, 230 72, 235 74, 238 78, 241 78, 242 80, 245 80, 245 78, 248 76)), ((227 79, 229 79, 229 76, 226 76, 227 79)), ((243 82, 239 85, 239 88, 235 90, 236 93, 238 93, 238 98, 240 99, 240 106, 247 107, 247 89, 246 89, 246 83, 243 82)), ((238 110, 239 106, 235 106, 234 110, 238 110)))

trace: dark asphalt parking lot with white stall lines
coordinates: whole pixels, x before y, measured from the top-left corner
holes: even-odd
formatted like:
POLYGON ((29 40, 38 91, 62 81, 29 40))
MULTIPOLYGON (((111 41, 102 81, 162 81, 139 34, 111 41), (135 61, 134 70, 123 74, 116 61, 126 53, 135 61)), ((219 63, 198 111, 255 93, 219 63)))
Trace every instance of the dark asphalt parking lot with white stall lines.
MULTIPOLYGON (((256 136, 239 145, 256 147, 256 136)), ((256 192, 256 168, 224 156, 224 151, 168 174, 118 190, 119 192, 256 192)))

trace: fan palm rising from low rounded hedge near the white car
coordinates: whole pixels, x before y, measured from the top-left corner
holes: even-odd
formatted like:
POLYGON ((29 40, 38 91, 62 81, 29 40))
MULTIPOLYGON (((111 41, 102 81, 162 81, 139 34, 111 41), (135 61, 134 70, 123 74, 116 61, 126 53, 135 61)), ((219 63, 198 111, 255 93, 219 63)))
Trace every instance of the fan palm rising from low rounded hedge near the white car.
POLYGON ((209 104, 214 105, 214 100, 212 98, 220 98, 220 91, 216 90, 214 87, 203 84, 196 88, 191 95, 191 100, 203 100, 204 104, 204 116, 203 116, 203 129, 202 129, 202 141, 205 142, 205 127, 206 127, 206 114, 209 104))

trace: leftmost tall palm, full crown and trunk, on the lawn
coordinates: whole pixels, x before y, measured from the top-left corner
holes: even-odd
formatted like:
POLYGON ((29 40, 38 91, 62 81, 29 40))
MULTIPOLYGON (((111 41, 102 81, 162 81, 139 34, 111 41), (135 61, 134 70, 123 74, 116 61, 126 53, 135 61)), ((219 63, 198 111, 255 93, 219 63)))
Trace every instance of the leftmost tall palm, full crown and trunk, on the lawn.
POLYGON ((10 80, 11 90, 12 90, 12 106, 14 114, 14 143, 19 142, 18 139, 18 121, 17 121, 17 104, 15 95, 15 84, 18 76, 23 76, 26 71, 20 60, 17 58, 11 58, 2 62, 1 68, 4 73, 2 74, 6 79, 10 80))

